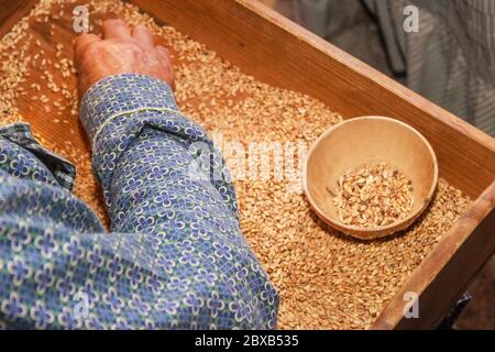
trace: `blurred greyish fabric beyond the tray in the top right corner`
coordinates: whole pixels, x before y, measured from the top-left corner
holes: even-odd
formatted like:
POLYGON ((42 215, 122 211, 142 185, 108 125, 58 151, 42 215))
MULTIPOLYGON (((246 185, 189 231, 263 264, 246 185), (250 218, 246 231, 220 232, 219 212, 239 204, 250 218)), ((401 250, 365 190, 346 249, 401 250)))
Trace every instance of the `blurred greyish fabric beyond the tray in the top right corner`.
POLYGON ((387 62, 405 85, 495 136, 494 0, 292 0, 294 19, 322 37, 365 7, 380 28, 387 62), (354 2, 354 4, 350 4, 354 2), (404 9, 418 11, 406 32, 404 9))

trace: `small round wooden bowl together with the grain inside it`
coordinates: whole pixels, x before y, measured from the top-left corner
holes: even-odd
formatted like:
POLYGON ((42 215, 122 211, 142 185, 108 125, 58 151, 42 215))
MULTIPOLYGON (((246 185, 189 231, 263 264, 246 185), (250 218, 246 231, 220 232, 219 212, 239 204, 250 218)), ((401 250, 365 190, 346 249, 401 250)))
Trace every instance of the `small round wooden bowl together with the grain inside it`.
POLYGON ((348 119, 314 143, 302 184, 326 223, 356 239, 375 240, 407 229, 427 209, 438 184, 437 156, 424 135, 397 119, 348 119), (370 199, 372 193, 376 199, 370 199))

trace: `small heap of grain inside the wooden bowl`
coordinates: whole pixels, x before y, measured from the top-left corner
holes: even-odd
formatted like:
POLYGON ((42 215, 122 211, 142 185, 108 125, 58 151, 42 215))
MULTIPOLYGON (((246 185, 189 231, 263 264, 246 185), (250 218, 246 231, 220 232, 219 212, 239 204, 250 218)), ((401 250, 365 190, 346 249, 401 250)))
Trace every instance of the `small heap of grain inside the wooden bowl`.
POLYGON ((398 169, 380 163, 346 170, 332 196, 345 224, 374 229, 405 219, 413 208, 413 184, 398 169))

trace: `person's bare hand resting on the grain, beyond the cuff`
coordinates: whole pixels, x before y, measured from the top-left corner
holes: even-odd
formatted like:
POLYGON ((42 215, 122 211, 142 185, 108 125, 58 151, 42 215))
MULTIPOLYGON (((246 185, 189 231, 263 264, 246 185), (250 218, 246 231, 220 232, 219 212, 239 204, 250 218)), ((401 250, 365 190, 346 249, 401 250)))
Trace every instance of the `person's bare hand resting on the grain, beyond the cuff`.
POLYGON ((132 30, 122 20, 103 22, 103 38, 84 34, 74 43, 78 72, 79 99, 98 80, 112 75, 133 73, 162 79, 174 87, 174 68, 168 51, 154 45, 148 29, 132 30))

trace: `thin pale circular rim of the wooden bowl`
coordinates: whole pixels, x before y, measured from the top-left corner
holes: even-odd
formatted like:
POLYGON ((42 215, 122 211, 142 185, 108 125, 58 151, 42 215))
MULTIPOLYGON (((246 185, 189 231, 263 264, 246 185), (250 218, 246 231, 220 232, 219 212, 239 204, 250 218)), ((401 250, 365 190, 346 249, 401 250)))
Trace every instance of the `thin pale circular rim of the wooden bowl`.
POLYGON ((437 154, 435 153, 431 144, 428 142, 428 140, 421 134, 419 133, 418 130, 416 130, 415 128, 413 128, 411 125, 397 120, 397 119, 393 119, 393 118, 386 118, 386 117, 380 117, 380 116, 364 116, 364 117, 356 117, 356 118, 351 118, 348 120, 344 120, 341 123, 338 123, 336 125, 332 125, 331 128, 329 128, 327 131, 324 131, 319 138, 318 140, 315 141, 315 143, 311 145, 309 152, 308 152, 308 156, 306 157, 306 162, 304 165, 304 172, 302 172, 302 189, 304 193, 306 195, 306 198, 308 199, 308 202, 310 205, 310 207, 312 208, 312 210, 318 215, 318 217, 320 217, 326 223, 328 223, 329 226, 333 227, 334 229, 344 232, 346 234, 350 234, 354 238, 358 239, 377 239, 377 238, 382 238, 385 235, 389 235, 393 234, 397 231, 404 230, 406 228, 408 228, 416 218, 418 218, 424 211, 425 209, 428 207, 428 205, 430 204, 435 190, 437 189, 437 184, 438 184, 438 161, 437 161, 437 154), (431 158, 433 161, 433 179, 430 186, 430 189, 428 190, 428 196, 425 198, 424 205, 422 207, 418 208, 416 211, 413 211, 411 213, 409 213, 405 219, 400 219, 397 220, 394 223, 384 226, 384 227, 377 227, 377 228, 373 228, 373 229, 366 229, 366 228, 360 228, 360 227, 355 227, 355 226, 348 226, 344 224, 338 220, 333 220, 332 218, 328 217, 316 204, 315 199, 311 197, 309 189, 308 189, 308 163, 309 163, 309 158, 311 156, 311 154, 315 152, 316 147, 331 133, 333 133, 336 130, 341 129, 350 123, 355 123, 355 122, 360 122, 360 121, 364 121, 364 120, 372 120, 372 121, 376 121, 376 120, 381 120, 381 121, 387 121, 387 122, 392 122, 392 123, 396 123, 402 125, 403 128, 408 129, 409 131, 411 131, 413 133, 415 133, 416 135, 419 136, 419 139, 425 143, 425 145, 427 146, 428 151, 430 152, 431 158))

